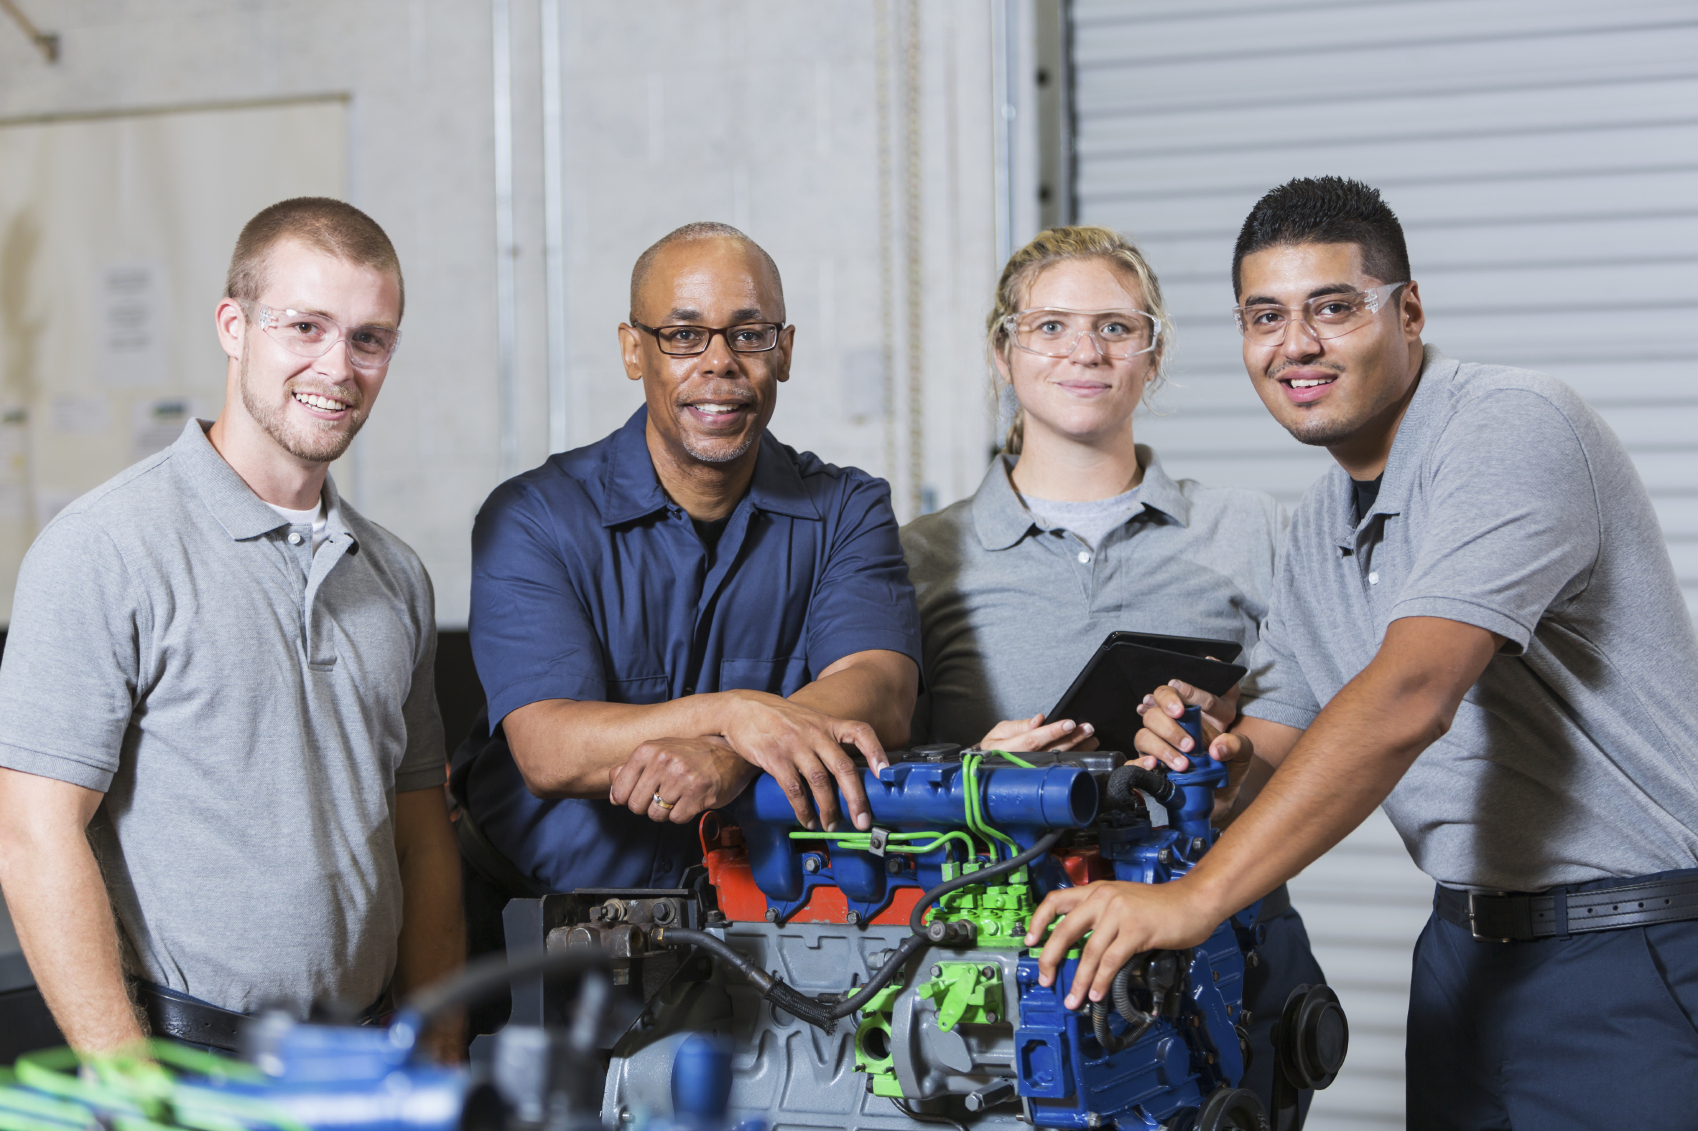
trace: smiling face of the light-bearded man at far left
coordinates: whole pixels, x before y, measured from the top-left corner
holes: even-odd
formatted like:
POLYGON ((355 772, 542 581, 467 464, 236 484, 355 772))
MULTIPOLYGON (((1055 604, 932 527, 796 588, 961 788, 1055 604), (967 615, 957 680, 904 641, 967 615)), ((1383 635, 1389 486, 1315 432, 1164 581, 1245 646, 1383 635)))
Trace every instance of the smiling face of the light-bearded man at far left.
MULTIPOLYGON (((355 369, 345 341, 323 357, 301 357, 260 328, 258 307, 324 314, 345 328, 394 329, 401 323, 401 284, 389 272, 294 239, 282 239, 270 250, 267 277, 258 304, 243 311, 238 401, 284 452, 309 464, 328 464, 348 450, 365 425, 389 365, 355 369)), ((233 299, 224 302, 236 306, 233 299)), ((221 321, 222 316, 221 304, 221 321)))

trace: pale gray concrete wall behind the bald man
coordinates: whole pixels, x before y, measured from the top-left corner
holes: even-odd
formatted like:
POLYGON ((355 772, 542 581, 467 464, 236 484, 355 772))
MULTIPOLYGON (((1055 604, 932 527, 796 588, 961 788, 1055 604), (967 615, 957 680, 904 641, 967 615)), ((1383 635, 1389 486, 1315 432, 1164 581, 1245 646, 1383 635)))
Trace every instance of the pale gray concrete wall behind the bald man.
MULTIPOLYGON (((348 195, 408 275, 404 343, 348 479, 424 557, 445 627, 465 620, 469 530, 489 489, 542 462, 552 438, 586 443, 637 406, 613 331, 630 263, 686 221, 744 228, 784 273, 798 335, 783 440, 893 477, 902 516, 978 482, 992 435, 980 340, 997 268, 993 5, 22 7, 63 54, 48 65, 0 24, 0 127, 346 97, 348 195)), ((211 314, 217 280, 204 289, 211 314)))

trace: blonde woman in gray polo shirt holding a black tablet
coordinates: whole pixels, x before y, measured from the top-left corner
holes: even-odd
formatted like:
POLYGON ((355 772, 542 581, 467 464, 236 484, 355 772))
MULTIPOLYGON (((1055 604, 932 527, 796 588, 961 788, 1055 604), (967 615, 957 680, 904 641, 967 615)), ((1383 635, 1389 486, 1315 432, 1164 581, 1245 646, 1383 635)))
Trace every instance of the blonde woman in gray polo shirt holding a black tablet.
MULTIPOLYGON (((902 530, 925 676, 914 740, 1090 749, 1088 725, 1043 712, 1117 628, 1251 652, 1285 516, 1257 491, 1175 481, 1133 440, 1170 343, 1161 285, 1114 231, 1053 228, 1004 267, 988 348, 1014 425, 973 498, 902 530)), ((1199 696, 1224 730, 1236 695, 1199 696)), ((1245 1087, 1270 1104, 1272 1022, 1290 987, 1324 978, 1284 888, 1265 905, 1245 1087)))

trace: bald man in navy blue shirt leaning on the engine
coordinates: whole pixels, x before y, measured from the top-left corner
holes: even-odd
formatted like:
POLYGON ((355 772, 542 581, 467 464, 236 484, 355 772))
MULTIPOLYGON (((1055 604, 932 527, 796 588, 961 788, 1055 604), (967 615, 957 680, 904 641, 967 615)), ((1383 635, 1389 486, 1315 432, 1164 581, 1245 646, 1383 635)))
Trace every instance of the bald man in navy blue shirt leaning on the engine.
POLYGON ((508 897, 676 886, 696 817, 761 771, 808 827, 871 827, 849 751, 878 769, 907 742, 919 613, 888 484, 766 431, 793 336, 766 251, 671 233, 620 326, 645 406, 479 513, 489 706, 453 779, 474 951, 508 897))

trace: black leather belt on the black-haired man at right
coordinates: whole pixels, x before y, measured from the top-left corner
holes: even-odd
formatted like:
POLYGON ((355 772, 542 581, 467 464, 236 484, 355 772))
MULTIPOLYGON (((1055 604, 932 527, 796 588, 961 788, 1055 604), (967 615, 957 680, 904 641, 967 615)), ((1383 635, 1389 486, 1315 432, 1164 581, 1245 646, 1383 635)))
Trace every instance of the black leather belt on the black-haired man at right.
POLYGON ((1698 875, 1628 880, 1608 888, 1552 888, 1535 895, 1438 888, 1438 917, 1481 942, 1530 942, 1698 919, 1698 875))

